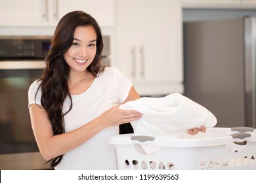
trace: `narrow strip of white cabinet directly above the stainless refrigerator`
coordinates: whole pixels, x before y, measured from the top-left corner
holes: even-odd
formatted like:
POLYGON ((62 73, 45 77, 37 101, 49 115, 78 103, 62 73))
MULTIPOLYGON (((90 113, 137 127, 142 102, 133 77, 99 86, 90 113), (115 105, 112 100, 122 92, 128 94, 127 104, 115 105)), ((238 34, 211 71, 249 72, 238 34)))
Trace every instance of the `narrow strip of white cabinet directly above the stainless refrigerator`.
POLYGON ((182 0, 183 8, 256 8, 256 0, 182 0))

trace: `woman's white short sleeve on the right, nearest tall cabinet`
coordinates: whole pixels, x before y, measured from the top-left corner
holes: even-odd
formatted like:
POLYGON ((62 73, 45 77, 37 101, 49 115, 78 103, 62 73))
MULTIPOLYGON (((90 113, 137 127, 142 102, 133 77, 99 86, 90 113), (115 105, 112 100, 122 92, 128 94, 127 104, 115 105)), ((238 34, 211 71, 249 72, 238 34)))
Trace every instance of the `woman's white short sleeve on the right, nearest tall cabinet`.
POLYGON ((125 99, 127 99, 133 84, 131 80, 129 80, 129 78, 127 78, 127 76, 121 73, 116 67, 113 68, 116 79, 118 103, 123 103, 125 99))

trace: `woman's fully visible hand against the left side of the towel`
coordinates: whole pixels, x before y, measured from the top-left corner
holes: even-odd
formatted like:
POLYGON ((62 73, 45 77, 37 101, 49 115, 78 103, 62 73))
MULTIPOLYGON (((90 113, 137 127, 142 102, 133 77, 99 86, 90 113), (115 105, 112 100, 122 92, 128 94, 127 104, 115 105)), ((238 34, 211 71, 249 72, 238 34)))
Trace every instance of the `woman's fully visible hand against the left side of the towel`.
POLYGON ((142 114, 137 110, 123 110, 119 108, 119 105, 116 105, 99 116, 100 121, 106 127, 113 125, 127 124, 139 120, 142 117, 142 114))

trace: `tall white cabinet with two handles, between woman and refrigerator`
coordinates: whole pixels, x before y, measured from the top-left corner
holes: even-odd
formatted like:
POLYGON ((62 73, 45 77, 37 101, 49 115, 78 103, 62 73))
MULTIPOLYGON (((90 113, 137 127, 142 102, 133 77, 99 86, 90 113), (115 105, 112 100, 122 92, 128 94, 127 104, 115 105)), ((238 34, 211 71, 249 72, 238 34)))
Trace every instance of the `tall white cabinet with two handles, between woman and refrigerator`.
POLYGON ((113 65, 140 95, 183 92, 181 1, 115 1, 113 65))

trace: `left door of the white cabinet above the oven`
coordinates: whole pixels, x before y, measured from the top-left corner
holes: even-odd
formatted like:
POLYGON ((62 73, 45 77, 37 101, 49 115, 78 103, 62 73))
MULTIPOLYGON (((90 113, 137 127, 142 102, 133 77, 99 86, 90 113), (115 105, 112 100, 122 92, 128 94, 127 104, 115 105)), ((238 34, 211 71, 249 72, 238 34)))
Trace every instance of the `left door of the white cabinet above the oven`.
POLYGON ((45 0, 0 0, 0 26, 41 26, 47 21, 45 0))

